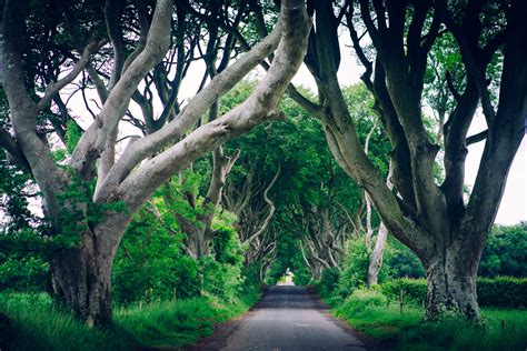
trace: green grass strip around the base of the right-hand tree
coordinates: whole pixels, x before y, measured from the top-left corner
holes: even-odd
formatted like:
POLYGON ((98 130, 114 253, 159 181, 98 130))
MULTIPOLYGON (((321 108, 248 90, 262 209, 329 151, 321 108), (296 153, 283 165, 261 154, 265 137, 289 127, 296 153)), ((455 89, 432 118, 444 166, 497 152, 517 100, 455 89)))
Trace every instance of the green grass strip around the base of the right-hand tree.
POLYGON ((526 350, 527 311, 513 309, 481 310, 485 328, 459 319, 422 322, 424 309, 405 305, 400 314, 396 303, 347 311, 334 309, 356 330, 397 350, 526 350))

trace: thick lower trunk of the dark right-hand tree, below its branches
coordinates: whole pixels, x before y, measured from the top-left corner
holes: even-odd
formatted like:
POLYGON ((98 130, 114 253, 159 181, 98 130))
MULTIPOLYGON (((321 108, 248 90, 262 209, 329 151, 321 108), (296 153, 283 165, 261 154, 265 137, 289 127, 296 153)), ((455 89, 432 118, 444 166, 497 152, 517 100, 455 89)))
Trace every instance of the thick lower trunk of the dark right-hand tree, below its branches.
POLYGON ((480 250, 463 250, 456 243, 435 252, 424 262, 427 273, 426 319, 448 313, 479 321, 476 295, 476 273, 480 250))

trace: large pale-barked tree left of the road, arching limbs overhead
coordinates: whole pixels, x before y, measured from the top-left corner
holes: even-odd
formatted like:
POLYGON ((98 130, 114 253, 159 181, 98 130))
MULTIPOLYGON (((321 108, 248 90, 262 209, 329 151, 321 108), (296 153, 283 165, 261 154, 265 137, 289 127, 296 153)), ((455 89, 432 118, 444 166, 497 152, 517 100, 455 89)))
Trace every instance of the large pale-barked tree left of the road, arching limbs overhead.
MULTIPOLYGON (((14 136, 2 142, 2 147, 12 159, 29 166, 42 193, 49 234, 70 240, 70 245, 57 250, 51 260, 57 298, 66 301, 88 324, 105 324, 111 318, 112 261, 132 214, 160 184, 199 156, 262 121, 280 118, 275 109, 304 57, 309 20, 300 1, 284 1, 280 20, 266 39, 216 76, 173 120, 151 134, 132 139, 117 157, 119 121, 127 114, 141 80, 170 46, 172 1, 158 0, 151 21, 146 23, 148 28, 142 27, 146 30, 139 33, 136 50, 126 60, 118 57, 123 53, 121 50, 115 50, 112 80, 101 111, 82 133, 70 158, 58 164, 37 126, 39 113, 106 42, 91 40, 68 74, 47 84, 43 96, 30 94, 24 77, 32 67, 22 60, 26 48, 20 46, 20 38, 32 34, 26 30, 28 10, 33 10, 30 1, 8 0, 3 6, 1 82, 14 136), (220 96, 275 50, 269 71, 242 104, 189 132, 220 96)), ((106 11, 110 18, 119 13, 111 6, 106 11)), ((107 22, 110 41, 118 47, 111 26, 116 22, 107 22)), ((117 33, 123 36, 122 31, 117 33)))

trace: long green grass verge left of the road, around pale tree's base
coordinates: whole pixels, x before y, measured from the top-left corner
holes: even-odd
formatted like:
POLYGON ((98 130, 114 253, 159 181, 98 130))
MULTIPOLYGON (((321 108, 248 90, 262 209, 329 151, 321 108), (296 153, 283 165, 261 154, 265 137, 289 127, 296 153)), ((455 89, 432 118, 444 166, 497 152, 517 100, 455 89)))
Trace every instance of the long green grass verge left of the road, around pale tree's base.
POLYGON ((53 305, 49 295, 1 293, 0 348, 13 350, 131 350, 178 348, 213 331, 213 324, 247 311, 253 291, 229 302, 213 297, 118 308, 108 329, 90 329, 53 305))

